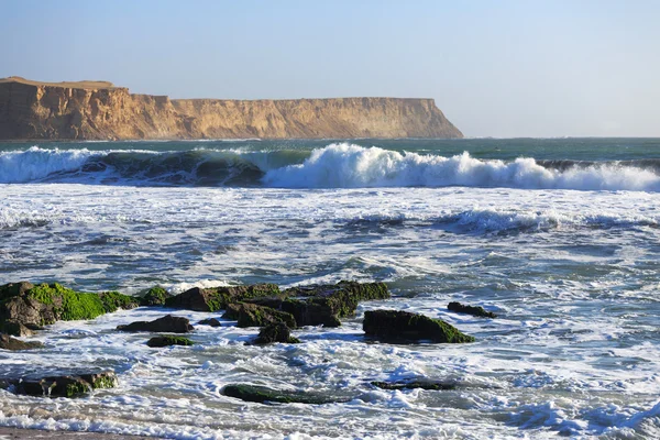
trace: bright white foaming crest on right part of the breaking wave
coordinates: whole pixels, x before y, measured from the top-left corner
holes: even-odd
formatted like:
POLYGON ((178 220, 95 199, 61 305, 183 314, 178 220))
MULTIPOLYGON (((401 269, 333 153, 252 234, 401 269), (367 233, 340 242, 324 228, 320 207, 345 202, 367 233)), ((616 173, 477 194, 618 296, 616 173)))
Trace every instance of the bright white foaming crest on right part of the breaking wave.
POLYGON ((468 186, 525 189, 660 190, 651 170, 594 165, 548 169, 534 158, 481 161, 469 153, 443 157, 340 143, 315 150, 300 165, 272 169, 263 182, 285 188, 468 186))

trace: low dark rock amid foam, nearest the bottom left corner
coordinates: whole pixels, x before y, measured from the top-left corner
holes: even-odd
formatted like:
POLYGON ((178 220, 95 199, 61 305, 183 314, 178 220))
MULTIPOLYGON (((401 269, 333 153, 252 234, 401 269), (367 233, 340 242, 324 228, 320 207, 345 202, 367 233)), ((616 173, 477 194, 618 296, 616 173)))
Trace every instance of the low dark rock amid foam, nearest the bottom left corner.
POLYGON ((92 389, 113 388, 118 384, 114 372, 48 375, 41 377, 29 375, 19 380, 9 380, 16 394, 46 397, 76 397, 91 393, 92 389))

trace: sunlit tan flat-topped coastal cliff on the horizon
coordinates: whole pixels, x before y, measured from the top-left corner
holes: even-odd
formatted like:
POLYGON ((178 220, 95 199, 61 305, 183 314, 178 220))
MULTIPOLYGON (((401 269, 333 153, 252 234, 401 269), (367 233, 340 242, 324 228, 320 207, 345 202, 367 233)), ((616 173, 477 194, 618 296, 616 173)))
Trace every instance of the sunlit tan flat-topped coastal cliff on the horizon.
POLYGON ((0 79, 0 140, 463 138, 432 99, 169 99, 0 79))

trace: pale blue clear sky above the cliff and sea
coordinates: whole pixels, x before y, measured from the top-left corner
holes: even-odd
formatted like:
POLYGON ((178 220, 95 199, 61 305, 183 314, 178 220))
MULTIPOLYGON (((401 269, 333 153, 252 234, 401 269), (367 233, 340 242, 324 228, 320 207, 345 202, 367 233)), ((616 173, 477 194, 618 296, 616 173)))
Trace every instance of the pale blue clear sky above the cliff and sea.
POLYGON ((0 77, 433 98, 466 136, 660 136, 657 0, 1 0, 0 77))

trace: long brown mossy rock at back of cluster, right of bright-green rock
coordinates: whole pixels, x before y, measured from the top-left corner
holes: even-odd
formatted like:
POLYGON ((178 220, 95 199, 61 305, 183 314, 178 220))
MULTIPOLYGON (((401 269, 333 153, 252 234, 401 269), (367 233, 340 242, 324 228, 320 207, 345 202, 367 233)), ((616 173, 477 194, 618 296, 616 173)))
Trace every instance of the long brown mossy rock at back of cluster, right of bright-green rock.
POLYGON ((183 294, 167 298, 165 306, 196 311, 218 311, 226 309, 228 305, 233 302, 277 295, 279 295, 279 287, 274 284, 215 287, 208 289, 194 287, 183 294))

